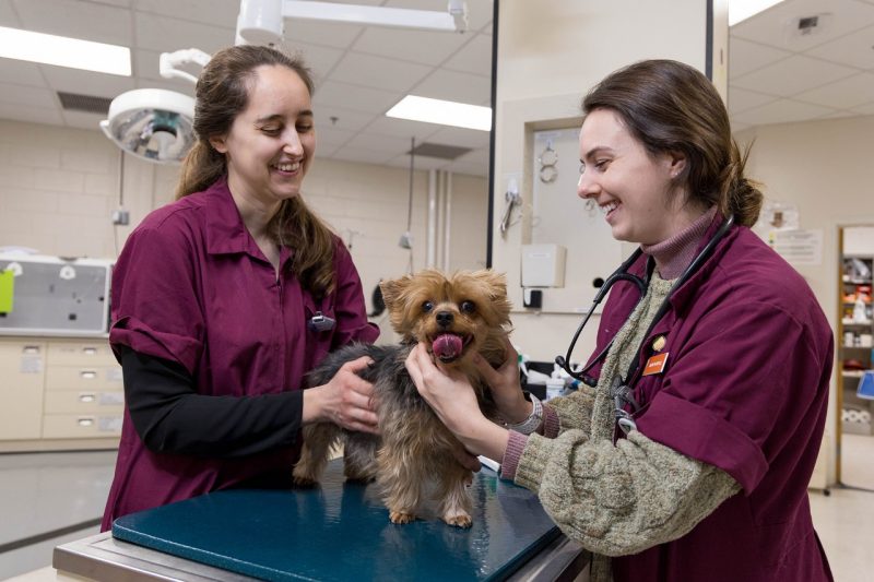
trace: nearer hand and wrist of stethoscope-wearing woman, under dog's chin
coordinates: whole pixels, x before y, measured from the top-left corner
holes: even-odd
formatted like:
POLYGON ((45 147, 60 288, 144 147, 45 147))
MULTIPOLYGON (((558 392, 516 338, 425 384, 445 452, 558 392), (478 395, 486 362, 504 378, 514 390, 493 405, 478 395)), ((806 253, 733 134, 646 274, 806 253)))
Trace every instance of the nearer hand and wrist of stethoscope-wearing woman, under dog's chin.
POLYGON ((418 393, 468 452, 504 458, 509 432, 483 415, 476 393, 463 373, 438 367, 424 343, 410 352, 406 370, 418 393))

